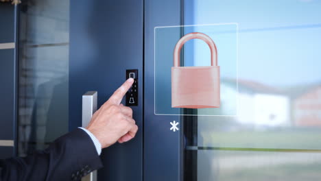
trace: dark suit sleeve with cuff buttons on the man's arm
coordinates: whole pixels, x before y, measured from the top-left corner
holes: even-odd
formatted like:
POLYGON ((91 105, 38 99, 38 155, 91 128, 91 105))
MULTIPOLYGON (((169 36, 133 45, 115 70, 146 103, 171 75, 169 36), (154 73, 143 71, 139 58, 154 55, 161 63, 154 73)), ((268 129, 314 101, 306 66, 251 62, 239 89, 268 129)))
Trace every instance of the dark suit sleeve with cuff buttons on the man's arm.
POLYGON ((77 129, 25 158, 0 160, 0 180, 80 180, 102 167, 90 136, 77 129))

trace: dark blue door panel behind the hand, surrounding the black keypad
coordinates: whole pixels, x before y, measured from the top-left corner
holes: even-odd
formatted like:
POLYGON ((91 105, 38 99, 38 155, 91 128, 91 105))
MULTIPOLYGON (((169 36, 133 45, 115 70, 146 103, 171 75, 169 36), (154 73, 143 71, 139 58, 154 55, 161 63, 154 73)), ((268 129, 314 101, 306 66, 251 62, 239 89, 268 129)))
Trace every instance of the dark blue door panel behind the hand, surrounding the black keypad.
MULTIPOLYGON (((82 95, 97 90, 100 107, 139 69, 143 103, 143 0, 71 0, 69 130, 82 122, 82 95)), ((143 180, 143 104, 132 107, 139 126, 134 140, 103 149, 98 180, 143 180)))

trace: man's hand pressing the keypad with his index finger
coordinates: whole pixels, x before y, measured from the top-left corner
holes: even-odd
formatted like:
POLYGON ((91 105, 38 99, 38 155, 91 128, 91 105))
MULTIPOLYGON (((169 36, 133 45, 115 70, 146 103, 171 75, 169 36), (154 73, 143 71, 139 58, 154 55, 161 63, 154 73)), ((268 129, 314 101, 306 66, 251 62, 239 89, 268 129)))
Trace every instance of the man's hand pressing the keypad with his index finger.
POLYGON ((123 106, 121 99, 132 86, 134 80, 128 79, 115 93, 93 114, 91 122, 87 126, 102 148, 116 143, 123 143, 134 138, 138 127, 132 119, 132 109, 123 106))

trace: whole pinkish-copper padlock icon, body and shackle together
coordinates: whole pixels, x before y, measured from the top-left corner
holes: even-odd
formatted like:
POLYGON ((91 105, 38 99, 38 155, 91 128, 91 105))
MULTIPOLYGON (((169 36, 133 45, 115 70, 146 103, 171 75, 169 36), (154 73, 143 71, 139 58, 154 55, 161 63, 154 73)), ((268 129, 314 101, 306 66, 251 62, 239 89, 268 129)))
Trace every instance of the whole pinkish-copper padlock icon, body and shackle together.
POLYGON ((193 32, 186 34, 174 49, 174 67, 171 67, 171 107, 172 108, 219 108, 220 77, 217 66, 217 49, 206 34, 193 32), (191 39, 204 40, 211 50, 211 66, 180 67, 180 50, 191 39))

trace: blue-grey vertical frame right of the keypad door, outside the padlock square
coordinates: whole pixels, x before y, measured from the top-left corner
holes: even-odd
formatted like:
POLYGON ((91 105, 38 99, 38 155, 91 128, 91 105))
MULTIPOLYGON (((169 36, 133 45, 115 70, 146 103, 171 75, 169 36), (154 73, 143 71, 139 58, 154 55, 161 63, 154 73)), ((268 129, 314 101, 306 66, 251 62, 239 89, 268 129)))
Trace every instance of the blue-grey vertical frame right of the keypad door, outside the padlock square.
POLYGON ((144 180, 148 181, 182 180, 180 116, 154 114, 154 27, 182 25, 182 10, 181 0, 145 0, 143 163, 144 180), (178 132, 169 130, 171 128, 169 122, 174 120, 180 122, 178 132))

